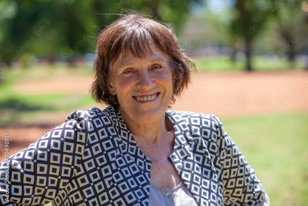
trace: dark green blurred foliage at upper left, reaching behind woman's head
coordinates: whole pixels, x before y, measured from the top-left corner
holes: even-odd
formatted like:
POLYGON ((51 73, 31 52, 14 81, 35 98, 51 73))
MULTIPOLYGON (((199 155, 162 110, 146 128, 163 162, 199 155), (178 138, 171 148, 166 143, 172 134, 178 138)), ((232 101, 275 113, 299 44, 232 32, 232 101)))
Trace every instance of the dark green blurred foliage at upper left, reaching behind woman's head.
POLYGON ((125 10, 155 16, 180 27, 191 2, 201 0, 2 0, 0 2, 0 57, 10 63, 30 56, 50 61, 93 53, 95 37, 125 10), (94 37, 94 38, 92 38, 94 37))

